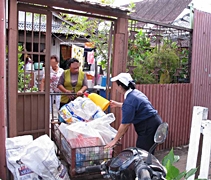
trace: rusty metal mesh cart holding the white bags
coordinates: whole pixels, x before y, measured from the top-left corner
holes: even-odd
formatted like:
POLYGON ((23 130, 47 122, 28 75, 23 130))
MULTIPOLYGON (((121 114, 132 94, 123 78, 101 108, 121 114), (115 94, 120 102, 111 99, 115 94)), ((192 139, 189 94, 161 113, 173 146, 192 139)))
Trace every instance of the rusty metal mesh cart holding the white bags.
MULTIPOLYGON (((55 93, 54 93, 55 94, 55 93)), ((59 128, 58 119, 52 113, 51 137, 58 148, 58 155, 64 160, 72 179, 103 179, 101 172, 86 172, 89 166, 100 165, 121 152, 121 144, 113 149, 105 149, 98 137, 77 136, 75 139, 66 139, 59 128)), ((71 125, 70 125, 71 126, 71 125)))

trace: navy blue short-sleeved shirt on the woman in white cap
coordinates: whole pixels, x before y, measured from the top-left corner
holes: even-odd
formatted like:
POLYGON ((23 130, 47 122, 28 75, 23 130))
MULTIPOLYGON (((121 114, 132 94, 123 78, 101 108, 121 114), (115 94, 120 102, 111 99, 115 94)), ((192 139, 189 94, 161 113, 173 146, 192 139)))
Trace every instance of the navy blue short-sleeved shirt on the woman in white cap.
POLYGON ((146 95, 136 89, 129 92, 122 105, 122 124, 137 124, 157 114, 146 95))

